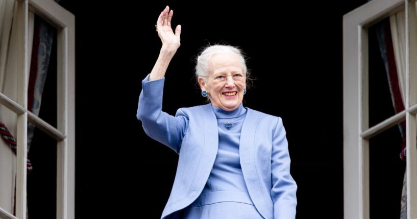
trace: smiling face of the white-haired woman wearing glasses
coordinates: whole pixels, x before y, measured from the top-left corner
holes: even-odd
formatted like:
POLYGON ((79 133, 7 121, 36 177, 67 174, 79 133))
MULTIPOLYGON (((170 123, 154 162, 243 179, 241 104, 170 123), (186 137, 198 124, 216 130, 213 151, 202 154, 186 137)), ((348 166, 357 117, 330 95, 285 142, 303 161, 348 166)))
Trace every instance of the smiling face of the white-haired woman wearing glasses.
POLYGON ((218 53, 208 61, 208 77, 199 77, 202 90, 206 90, 214 107, 232 111, 243 100, 246 77, 239 57, 230 53, 218 53))

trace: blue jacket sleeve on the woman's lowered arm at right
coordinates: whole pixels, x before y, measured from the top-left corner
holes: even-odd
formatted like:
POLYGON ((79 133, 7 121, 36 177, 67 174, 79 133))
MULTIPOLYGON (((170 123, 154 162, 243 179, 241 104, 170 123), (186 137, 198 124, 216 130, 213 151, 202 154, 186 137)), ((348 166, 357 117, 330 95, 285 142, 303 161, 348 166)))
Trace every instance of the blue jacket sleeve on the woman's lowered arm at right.
POLYGON ((297 184, 290 175, 289 166, 290 158, 288 153, 288 142, 285 137, 282 119, 278 118, 273 137, 271 159, 271 198, 274 202, 275 219, 296 218, 297 184))

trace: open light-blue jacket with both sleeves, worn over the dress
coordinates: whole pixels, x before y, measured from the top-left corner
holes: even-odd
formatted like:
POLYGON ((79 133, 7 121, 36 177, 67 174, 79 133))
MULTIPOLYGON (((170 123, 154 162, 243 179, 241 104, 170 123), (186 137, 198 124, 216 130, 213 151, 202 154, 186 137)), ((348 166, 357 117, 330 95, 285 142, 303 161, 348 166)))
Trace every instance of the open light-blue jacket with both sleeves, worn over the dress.
MULTIPOLYGON (((217 119, 211 104, 178 109, 176 116, 162 111, 164 79, 142 81, 137 118, 151 138, 179 156, 177 173, 161 218, 197 199, 206 185, 218 146, 217 119)), ((239 156, 244 181, 259 213, 269 219, 296 215, 297 184, 289 166, 288 144, 280 117, 247 108, 239 156)))

